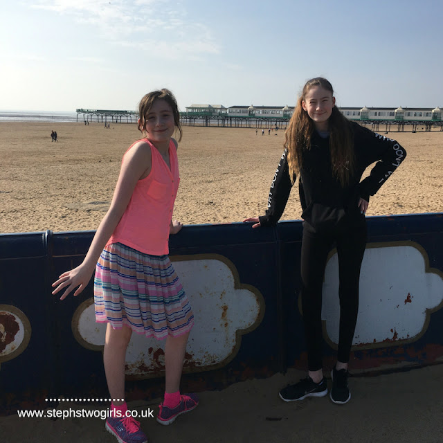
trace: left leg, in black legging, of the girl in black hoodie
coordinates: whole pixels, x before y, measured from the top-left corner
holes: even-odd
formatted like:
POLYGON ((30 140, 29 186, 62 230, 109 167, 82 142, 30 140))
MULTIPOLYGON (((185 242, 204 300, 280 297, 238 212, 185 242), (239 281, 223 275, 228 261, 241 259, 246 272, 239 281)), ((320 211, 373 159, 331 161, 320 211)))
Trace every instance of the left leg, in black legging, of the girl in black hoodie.
POLYGON ((302 311, 309 365, 309 377, 318 383, 323 379, 323 329, 321 305, 323 275, 332 239, 303 227, 301 252, 302 311))

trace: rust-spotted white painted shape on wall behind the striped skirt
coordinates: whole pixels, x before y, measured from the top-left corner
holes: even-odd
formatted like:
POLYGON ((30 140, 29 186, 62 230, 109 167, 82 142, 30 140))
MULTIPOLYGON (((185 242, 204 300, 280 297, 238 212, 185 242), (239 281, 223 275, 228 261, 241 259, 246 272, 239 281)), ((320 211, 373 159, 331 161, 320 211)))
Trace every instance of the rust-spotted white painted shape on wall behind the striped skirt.
MULTIPOLYGON (((173 265, 195 316, 186 360, 192 361, 194 367, 204 367, 235 355, 237 330, 252 327, 260 316, 258 296, 248 289, 236 289, 232 271, 220 260, 184 260, 173 265)), ((103 345, 105 329, 105 324, 95 322, 94 305, 82 311, 78 332, 84 341, 103 345)), ((126 373, 148 374, 163 369, 164 343, 132 334, 126 354, 126 373)))

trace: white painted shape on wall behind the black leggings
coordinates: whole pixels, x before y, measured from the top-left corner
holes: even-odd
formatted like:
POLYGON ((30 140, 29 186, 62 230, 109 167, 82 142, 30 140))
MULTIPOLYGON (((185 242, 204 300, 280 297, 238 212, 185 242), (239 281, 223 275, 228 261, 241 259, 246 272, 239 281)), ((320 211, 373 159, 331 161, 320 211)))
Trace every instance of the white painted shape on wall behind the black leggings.
MULTIPOLYGON (((406 340, 424 327, 426 309, 443 300, 443 279, 425 269, 413 246, 366 248, 361 266, 359 318, 354 345, 406 340)), ((338 256, 327 262, 322 318, 327 336, 338 343, 338 256)))

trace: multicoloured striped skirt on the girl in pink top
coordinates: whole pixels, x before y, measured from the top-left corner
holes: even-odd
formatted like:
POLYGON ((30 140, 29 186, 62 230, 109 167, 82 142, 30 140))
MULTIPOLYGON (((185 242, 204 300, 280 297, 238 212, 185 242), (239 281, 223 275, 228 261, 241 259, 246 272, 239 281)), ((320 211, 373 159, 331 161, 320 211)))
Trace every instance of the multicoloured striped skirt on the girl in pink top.
POLYGON ((194 324, 188 297, 168 255, 109 244, 94 278, 96 321, 159 339, 186 334, 194 324))

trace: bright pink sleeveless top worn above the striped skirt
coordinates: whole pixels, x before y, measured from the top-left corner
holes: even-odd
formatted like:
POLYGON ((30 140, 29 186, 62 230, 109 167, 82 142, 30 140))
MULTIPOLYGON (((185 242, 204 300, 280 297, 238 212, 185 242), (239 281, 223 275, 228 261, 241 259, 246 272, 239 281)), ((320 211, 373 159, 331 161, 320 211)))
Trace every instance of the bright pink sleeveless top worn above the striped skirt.
POLYGON ((125 213, 107 245, 123 243, 143 253, 167 255, 172 210, 180 181, 177 149, 171 140, 170 169, 157 148, 147 138, 143 138, 143 141, 151 147, 151 172, 145 179, 138 180, 125 213))

